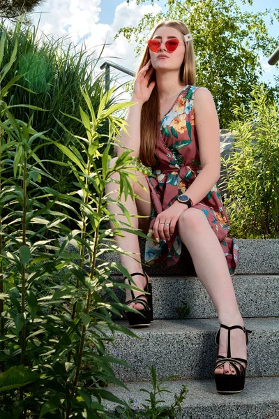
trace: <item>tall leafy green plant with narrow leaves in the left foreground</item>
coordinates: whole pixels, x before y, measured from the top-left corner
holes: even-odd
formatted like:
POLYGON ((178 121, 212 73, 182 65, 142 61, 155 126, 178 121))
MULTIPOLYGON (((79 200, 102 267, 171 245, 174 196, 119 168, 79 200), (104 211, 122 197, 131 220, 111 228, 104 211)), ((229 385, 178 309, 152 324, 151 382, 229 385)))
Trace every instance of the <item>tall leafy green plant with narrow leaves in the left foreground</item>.
MULTIPOLYGON (((2 36, 0 66, 5 42, 2 36)), ((16 52, 15 47, 0 73, 1 82, 16 52)), ((120 175, 120 193, 131 193, 129 178, 135 165, 129 152, 109 169, 114 135, 120 128, 126 129, 115 112, 130 103, 108 106, 113 89, 105 95, 102 91, 95 113, 89 93, 82 90, 91 118, 80 108, 80 123, 87 138, 75 137, 80 141, 79 152, 46 137, 45 132, 35 131, 32 116, 28 122, 14 117, 11 108, 14 110, 15 105, 7 105, 3 99, 9 98, 16 78, 2 83, 0 94, 0 416, 114 417, 105 411, 103 399, 123 402, 105 387, 110 382, 125 387, 111 364, 126 362, 107 356, 105 344, 113 341, 115 331, 136 335, 112 321, 112 312, 121 315, 120 311, 130 308, 112 292, 113 286, 129 286, 114 284, 110 272, 119 270, 126 276, 128 272, 103 260, 103 253, 121 249, 107 241, 112 231, 101 228, 101 222, 114 221, 107 211, 110 197, 105 196, 105 185, 114 172, 120 175), (100 138, 97 128, 106 122, 109 135, 100 138), (37 155, 41 147, 50 144, 68 156, 67 163, 55 164, 73 171, 76 191, 63 194, 43 185, 44 177, 52 179, 54 186, 58 182, 37 155), (96 159, 101 161, 100 168, 96 159), (57 203, 60 212, 54 209, 57 203), (75 223, 74 230, 66 225, 68 219, 75 223), (49 232, 51 239, 47 238, 49 232), (61 236, 63 243, 59 245, 61 236), (80 252, 77 264, 76 253, 67 251, 70 242, 80 252), (61 270, 68 272, 65 281, 53 284, 53 277, 61 270), (45 289, 48 280, 53 288, 45 289), (103 293, 109 293, 112 302, 103 302, 103 293)), ((117 230, 116 222, 115 226, 117 230)), ((128 223, 127 230, 133 230, 128 223)))

